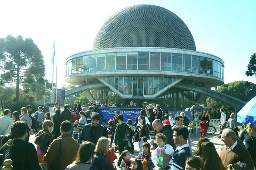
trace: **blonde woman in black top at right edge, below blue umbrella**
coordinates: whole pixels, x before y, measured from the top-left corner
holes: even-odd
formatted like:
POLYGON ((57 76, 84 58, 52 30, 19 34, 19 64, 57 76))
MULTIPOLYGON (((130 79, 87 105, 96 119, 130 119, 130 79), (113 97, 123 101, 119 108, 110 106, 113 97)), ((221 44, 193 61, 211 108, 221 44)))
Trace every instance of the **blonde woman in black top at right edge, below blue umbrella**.
POLYGON ((256 125, 246 124, 246 129, 240 134, 241 141, 245 141, 245 148, 249 151, 256 168, 256 125))

